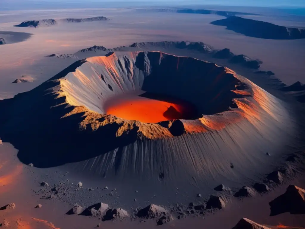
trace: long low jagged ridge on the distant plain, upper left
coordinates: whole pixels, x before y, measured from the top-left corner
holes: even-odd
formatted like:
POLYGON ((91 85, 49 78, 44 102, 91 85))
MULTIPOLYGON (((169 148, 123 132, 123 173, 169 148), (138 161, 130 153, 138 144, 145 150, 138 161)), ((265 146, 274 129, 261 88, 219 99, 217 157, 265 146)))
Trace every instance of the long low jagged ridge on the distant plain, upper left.
POLYGON ((63 23, 81 23, 81 22, 92 22, 92 21, 108 21, 109 18, 98 16, 98 17, 88 17, 88 18, 63 18, 59 20, 55 19, 42 19, 42 20, 29 20, 20 23, 19 25, 14 25, 15 27, 44 27, 57 25, 58 22, 63 23))

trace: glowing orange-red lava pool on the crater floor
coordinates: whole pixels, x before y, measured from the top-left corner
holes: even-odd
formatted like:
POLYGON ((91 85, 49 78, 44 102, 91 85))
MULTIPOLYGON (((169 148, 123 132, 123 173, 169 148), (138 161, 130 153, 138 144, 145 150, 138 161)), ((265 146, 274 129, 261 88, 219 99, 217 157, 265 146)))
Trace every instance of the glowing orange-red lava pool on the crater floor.
POLYGON ((107 114, 146 123, 157 123, 178 118, 187 119, 188 112, 188 108, 181 104, 141 96, 117 99, 106 108, 107 114))

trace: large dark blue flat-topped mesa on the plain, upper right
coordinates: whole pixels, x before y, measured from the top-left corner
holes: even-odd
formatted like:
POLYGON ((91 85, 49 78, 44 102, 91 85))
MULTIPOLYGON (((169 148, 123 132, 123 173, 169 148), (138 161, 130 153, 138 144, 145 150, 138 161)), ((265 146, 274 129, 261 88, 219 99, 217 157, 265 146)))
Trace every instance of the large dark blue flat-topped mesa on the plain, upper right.
POLYGON ((228 30, 241 33, 248 37, 264 39, 302 39, 305 38, 305 29, 288 28, 269 22, 230 16, 226 19, 213 21, 212 25, 226 26, 228 30))

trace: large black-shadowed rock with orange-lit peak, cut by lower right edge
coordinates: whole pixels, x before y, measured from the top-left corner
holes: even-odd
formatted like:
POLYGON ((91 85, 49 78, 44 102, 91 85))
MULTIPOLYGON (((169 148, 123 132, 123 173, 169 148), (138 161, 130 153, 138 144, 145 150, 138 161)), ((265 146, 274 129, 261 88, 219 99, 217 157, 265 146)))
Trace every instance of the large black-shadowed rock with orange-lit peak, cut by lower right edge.
POLYGON ((289 212, 290 214, 305 214, 305 190, 295 185, 289 185, 286 192, 269 203, 270 216, 289 212))

